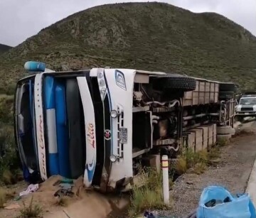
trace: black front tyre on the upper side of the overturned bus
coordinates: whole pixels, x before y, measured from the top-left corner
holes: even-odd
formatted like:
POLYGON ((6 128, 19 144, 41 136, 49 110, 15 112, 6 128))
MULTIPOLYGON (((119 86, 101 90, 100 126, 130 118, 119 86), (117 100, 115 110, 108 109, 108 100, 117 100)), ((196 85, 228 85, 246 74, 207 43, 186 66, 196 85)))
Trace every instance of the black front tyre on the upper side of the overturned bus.
POLYGON ((154 79, 153 87, 159 91, 164 89, 179 89, 188 92, 196 89, 196 80, 183 76, 158 77, 154 79))

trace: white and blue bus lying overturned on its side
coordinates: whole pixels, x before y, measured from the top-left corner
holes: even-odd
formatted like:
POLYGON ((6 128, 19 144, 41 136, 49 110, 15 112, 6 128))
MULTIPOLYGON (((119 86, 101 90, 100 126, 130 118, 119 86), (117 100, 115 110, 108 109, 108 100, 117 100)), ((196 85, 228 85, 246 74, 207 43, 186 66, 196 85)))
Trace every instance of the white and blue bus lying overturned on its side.
POLYGON ((83 175, 86 187, 122 190, 144 158, 176 158, 191 147, 191 129, 233 126, 233 83, 130 69, 54 72, 40 62, 25 68, 35 73, 17 83, 14 117, 29 182, 83 175))

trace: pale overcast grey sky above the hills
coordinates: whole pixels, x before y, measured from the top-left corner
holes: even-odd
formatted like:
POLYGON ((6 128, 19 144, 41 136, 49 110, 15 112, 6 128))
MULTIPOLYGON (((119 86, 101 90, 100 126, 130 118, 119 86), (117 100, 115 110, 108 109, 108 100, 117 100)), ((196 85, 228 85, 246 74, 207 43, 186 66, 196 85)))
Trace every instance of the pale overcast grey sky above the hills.
MULTIPOLYGON (((129 0, 131 1, 134 0, 129 0)), ((36 35, 42 28, 75 12, 101 4, 122 2, 125 1, 0 0, 0 43, 16 46, 26 38, 36 35)), ((159 0, 159 2, 173 4, 196 13, 220 13, 256 36, 256 0, 159 0)))

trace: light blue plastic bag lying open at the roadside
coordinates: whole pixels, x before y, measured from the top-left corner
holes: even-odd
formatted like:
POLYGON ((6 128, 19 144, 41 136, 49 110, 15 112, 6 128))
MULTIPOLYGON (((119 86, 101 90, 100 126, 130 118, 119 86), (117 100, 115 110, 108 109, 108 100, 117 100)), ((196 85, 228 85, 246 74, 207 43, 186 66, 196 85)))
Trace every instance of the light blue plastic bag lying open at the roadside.
POLYGON ((197 218, 256 218, 255 207, 249 195, 235 197, 221 186, 206 187, 199 201, 197 218), (230 202, 223 202, 228 199, 230 202), (219 202, 212 207, 206 207, 208 202, 219 202))

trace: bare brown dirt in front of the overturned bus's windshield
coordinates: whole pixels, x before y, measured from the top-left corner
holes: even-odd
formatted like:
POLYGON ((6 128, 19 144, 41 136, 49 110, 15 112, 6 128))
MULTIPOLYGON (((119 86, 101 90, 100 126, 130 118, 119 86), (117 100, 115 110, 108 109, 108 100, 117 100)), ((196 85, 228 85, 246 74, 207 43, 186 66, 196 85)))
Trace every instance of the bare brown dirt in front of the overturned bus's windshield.
POLYGON ((23 204, 25 204, 26 207, 30 204, 31 197, 33 197, 33 206, 40 206, 41 209, 43 209, 41 215, 46 218, 104 218, 107 217, 107 214, 110 214, 112 210, 124 208, 129 205, 129 199, 127 199, 127 197, 103 196, 98 192, 85 190, 82 178, 75 180, 72 188, 74 194, 72 197, 65 197, 65 205, 56 205, 57 197, 54 197, 54 194, 56 191, 60 190, 60 187, 54 184, 61 179, 59 175, 52 176, 46 182, 41 183, 36 192, 23 196, 21 200, 17 201, 14 200, 14 197, 17 197, 19 192, 26 190, 27 184, 21 182, 9 187, 9 192, 15 192, 15 195, 6 203, 6 206, 15 206, 17 208, 0 209, 0 217, 18 217, 20 210, 24 207, 23 204))

